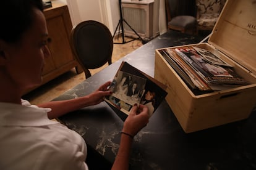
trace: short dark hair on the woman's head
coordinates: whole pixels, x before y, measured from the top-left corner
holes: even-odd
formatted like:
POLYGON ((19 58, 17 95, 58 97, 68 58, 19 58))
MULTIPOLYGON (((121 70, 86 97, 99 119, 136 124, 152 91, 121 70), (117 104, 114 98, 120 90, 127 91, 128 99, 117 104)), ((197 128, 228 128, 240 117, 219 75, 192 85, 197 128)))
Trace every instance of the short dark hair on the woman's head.
POLYGON ((33 8, 43 11, 41 0, 5 0, 0 5, 0 39, 19 41, 33 23, 33 8))

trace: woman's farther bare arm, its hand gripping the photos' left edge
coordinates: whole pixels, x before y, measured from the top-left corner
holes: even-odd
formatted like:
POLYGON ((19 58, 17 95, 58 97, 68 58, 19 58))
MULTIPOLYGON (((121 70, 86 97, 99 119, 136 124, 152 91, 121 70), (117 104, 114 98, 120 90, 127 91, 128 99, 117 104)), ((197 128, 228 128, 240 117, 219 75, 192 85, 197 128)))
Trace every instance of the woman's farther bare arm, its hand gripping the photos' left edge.
POLYGON ((100 86, 95 92, 77 99, 70 100, 60 100, 52 101, 47 103, 42 103, 38 107, 51 108, 51 111, 48 112, 48 118, 58 118, 59 116, 65 115, 70 111, 79 110, 80 108, 87 107, 90 105, 96 105, 100 102, 103 102, 104 97, 111 95, 111 91, 108 91, 108 86, 110 81, 100 86))

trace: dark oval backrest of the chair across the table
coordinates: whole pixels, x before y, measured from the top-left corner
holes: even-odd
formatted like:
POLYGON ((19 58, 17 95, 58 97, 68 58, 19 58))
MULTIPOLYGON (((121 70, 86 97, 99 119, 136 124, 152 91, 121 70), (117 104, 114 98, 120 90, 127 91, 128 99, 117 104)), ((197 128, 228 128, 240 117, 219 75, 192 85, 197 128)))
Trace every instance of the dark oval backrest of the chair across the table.
POLYGON ((95 69, 112 63, 113 38, 103 23, 87 20, 74 26, 71 31, 71 46, 74 55, 85 71, 85 77, 91 76, 88 69, 95 69))

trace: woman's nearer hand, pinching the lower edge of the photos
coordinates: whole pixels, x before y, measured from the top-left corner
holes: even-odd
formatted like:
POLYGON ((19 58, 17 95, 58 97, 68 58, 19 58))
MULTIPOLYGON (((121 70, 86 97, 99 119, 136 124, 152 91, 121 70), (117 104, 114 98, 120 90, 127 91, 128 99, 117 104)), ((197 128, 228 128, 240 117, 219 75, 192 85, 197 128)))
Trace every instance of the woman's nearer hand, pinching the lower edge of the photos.
POLYGON ((137 104, 135 104, 130 110, 126 121, 124 121, 122 132, 135 136, 140 129, 148 124, 148 119, 148 108, 141 104, 137 107, 137 104))

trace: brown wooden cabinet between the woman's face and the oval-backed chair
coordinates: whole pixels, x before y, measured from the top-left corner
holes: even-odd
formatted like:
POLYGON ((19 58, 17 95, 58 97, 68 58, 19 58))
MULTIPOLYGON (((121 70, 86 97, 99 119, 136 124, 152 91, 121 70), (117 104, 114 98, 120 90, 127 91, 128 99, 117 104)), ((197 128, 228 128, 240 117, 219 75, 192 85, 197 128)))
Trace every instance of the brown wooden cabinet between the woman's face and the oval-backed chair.
MULTIPOLYGON (((66 4, 53 3, 53 7, 44 10, 49 34, 51 56, 45 59, 43 83, 77 67, 77 62, 70 47, 72 23, 66 4)), ((77 69, 80 73, 82 70, 77 69)))

